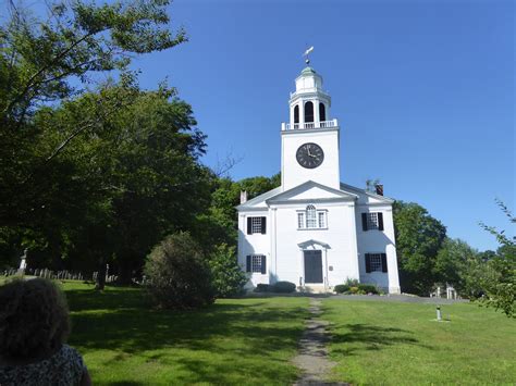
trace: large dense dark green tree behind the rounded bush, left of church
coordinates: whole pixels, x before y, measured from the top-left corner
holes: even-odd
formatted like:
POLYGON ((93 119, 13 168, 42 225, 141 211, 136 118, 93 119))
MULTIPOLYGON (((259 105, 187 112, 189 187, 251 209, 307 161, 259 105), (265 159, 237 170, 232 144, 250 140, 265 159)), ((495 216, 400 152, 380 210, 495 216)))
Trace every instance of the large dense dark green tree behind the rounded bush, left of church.
POLYGON ((81 182, 87 191, 78 197, 84 198, 81 219, 63 232, 72 253, 88 249, 100 271, 109 262, 127 282, 165 234, 191 229, 207 210, 210 173, 199 163, 206 137, 195 128, 191 107, 164 86, 140 91, 135 84, 107 84, 99 92, 41 111, 36 120, 49 137, 59 137, 99 115, 98 127, 76 138, 60 158, 75 165, 66 180, 81 182), (110 109, 107 100, 120 107, 103 114, 110 109))

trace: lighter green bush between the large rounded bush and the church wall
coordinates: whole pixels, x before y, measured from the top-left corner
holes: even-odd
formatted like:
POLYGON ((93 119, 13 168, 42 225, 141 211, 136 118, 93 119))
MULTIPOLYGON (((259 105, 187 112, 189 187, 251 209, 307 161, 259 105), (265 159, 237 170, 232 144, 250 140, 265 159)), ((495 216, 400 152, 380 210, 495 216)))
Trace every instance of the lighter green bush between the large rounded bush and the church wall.
POLYGON ((244 291, 247 276, 238 266, 235 247, 222 244, 210 259, 212 283, 218 297, 226 298, 244 291))

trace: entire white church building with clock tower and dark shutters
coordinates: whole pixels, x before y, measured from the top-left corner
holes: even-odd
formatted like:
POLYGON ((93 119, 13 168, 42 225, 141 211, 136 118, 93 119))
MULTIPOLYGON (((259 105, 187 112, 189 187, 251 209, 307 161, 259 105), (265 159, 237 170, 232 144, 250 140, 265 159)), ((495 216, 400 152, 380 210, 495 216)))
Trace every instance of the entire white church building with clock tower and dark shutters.
POLYGON ((346 278, 400 292, 393 200, 340 180, 340 126, 322 77, 307 66, 281 125, 281 186, 238 211, 238 264, 247 288, 292 282, 330 291, 346 278))

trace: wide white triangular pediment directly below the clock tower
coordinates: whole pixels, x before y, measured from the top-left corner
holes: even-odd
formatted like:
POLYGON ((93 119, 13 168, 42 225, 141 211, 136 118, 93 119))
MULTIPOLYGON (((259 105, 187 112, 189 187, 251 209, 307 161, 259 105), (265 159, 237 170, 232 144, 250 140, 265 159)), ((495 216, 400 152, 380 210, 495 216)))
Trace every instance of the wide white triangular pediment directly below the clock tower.
POLYGON ((354 201, 356 198, 357 196, 354 194, 333 189, 309 180, 292 189, 270 197, 266 200, 266 202, 270 204, 290 202, 354 201))

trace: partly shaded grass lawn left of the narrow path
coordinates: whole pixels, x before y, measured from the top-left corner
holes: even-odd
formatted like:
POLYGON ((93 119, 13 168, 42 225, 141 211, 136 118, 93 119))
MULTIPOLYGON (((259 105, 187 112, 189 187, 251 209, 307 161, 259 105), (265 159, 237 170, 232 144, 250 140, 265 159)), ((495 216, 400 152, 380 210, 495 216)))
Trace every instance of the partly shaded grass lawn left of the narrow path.
POLYGON ((65 283, 70 345, 95 385, 292 384, 290 360, 306 298, 218 300, 200 311, 156 311, 136 288, 65 283))

